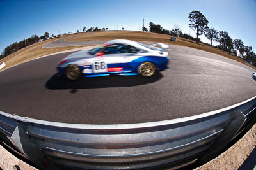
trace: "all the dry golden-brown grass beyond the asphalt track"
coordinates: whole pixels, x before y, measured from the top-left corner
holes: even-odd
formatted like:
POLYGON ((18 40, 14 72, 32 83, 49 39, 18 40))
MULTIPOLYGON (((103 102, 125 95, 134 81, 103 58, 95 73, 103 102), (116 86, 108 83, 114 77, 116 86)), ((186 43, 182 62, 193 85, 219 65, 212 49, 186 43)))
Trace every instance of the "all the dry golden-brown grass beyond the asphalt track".
MULTIPOLYGON (((199 50, 204 50, 206 52, 216 53, 218 55, 223 55, 233 60, 237 60, 243 64, 246 64, 243 60, 234 57, 228 53, 225 53, 218 48, 213 48, 212 46, 206 45, 204 43, 195 43, 195 41, 177 38, 177 41, 170 41, 170 36, 164 34, 156 34, 152 32, 139 32, 139 31, 99 31, 99 32, 89 32, 89 33, 78 33, 72 35, 61 36, 60 38, 68 38, 67 41, 92 41, 92 40, 111 40, 111 39, 130 39, 133 41, 150 41, 150 42, 159 42, 159 43, 167 43, 171 45, 181 45, 188 46, 191 48, 196 48, 199 50), (68 38, 69 36, 75 36, 72 38, 68 38)), ((16 66, 22 62, 26 62, 31 59, 36 59, 43 55, 47 55, 54 52, 60 52, 63 50, 70 50, 72 48, 79 48, 81 46, 68 46, 68 47, 59 47, 59 48, 42 48, 43 45, 49 43, 51 41, 56 41, 60 38, 48 39, 46 41, 41 41, 35 43, 33 45, 27 46, 26 48, 22 48, 18 52, 12 53, 8 55, 4 59, 0 60, 0 64, 5 62, 6 66, 1 70, 8 69, 9 67, 16 66)), ((250 64, 246 64, 247 66, 256 69, 250 64)))

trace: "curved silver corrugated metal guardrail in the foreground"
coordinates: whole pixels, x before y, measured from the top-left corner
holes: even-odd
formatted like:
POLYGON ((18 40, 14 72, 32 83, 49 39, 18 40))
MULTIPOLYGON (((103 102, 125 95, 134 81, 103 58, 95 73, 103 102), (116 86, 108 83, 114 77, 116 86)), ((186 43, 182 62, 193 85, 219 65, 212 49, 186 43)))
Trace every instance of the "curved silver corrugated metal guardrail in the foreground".
POLYGON ((255 108, 253 97, 193 117, 118 125, 64 124, 0 112, 0 136, 40 169, 177 167, 216 156, 254 120, 255 108))

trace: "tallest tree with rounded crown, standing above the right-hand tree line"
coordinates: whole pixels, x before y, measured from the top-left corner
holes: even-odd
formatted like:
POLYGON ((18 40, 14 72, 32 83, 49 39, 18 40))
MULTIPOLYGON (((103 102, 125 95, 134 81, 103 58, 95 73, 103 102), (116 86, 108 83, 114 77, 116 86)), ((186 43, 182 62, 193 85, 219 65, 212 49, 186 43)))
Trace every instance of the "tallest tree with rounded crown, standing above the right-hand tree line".
POLYGON ((196 33, 196 43, 198 42, 198 36, 204 34, 209 27, 207 27, 207 24, 209 21, 206 19, 206 17, 200 13, 200 11, 191 11, 189 13, 189 21, 191 22, 189 25, 189 28, 193 29, 196 33))

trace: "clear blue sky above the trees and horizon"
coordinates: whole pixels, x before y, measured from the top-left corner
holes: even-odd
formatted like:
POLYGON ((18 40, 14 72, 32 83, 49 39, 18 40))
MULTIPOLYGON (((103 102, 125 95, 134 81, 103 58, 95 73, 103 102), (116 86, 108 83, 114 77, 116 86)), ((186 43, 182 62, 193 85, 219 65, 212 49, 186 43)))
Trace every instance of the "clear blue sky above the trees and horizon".
MULTIPOLYGON (((189 34, 189 13, 198 10, 209 20, 209 27, 227 31, 232 39, 241 39, 244 45, 256 51, 256 1, 152 1, 152 0, 0 0, 0 52, 15 41, 41 36, 76 32, 80 26, 141 31, 149 22, 164 29, 179 25, 189 34)), ((195 32, 190 31, 192 36, 195 32)), ((200 36, 202 41, 209 41, 200 36)))

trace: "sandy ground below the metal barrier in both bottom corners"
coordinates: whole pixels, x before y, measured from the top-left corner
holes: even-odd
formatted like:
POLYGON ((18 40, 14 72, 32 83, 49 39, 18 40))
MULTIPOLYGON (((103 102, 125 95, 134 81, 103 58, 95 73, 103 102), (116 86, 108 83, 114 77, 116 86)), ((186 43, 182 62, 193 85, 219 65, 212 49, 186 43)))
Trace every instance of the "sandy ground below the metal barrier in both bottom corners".
MULTIPOLYGON (((248 160, 253 157, 256 144, 256 125, 248 131, 235 145, 229 148, 215 159, 207 162, 203 166, 196 168, 202 169, 255 169, 255 162, 248 160), (249 156, 249 157, 248 157, 249 156)), ((254 155, 255 157, 255 155, 254 155)), ((22 160, 17 159, 12 153, 8 152, 0 145, 0 169, 27 169, 35 170, 35 167, 29 166, 22 160)))

